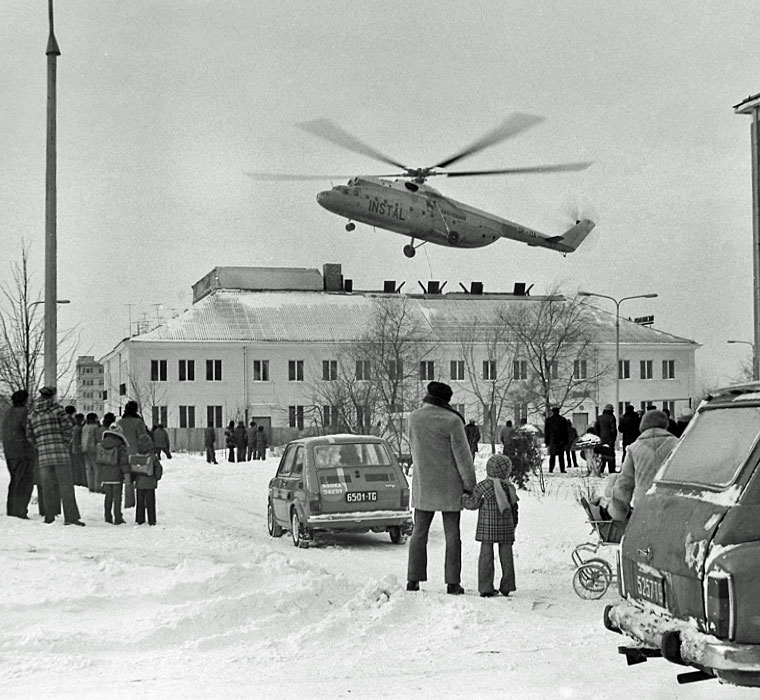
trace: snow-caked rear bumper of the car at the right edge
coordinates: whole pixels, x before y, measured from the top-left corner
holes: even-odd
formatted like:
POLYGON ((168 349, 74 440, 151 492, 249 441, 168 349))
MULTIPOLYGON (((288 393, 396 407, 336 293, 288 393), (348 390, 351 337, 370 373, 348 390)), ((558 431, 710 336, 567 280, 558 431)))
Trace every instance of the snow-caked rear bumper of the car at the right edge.
POLYGON ((737 644, 718 639, 667 612, 625 600, 605 611, 608 629, 621 632, 674 663, 715 671, 760 672, 760 644, 737 644))

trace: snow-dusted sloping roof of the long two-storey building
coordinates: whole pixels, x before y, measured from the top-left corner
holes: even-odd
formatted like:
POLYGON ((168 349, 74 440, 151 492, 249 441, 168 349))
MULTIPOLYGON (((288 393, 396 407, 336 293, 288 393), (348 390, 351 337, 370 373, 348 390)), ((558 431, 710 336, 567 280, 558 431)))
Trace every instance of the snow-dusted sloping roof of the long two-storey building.
MULTIPOLYGON (((540 303, 542 297, 511 295, 382 295, 322 291, 243 291, 217 289, 179 316, 131 342, 326 342, 359 340, 367 331, 378 298, 403 298, 421 339, 455 341, 475 320, 493 325, 503 306, 540 303), (489 322, 490 321, 490 322, 489 322)), ((596 343, 615 342, 615 317, 584 304, 596 343)), ((692 340, 620 319, 620 342, 689 344, 692 340)))

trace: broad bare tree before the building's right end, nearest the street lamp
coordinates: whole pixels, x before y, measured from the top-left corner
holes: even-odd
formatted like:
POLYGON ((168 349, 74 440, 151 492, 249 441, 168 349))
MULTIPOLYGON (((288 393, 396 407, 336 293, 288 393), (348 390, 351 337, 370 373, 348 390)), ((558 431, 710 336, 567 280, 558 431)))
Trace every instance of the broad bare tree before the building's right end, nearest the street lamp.
POLYGON ((528 376, 516 392, 542 417, 558 405, 572 411, 594 395, 604 368, 593 345, 594 328, 578 297, 555 289, 542 299, 504 307, 500 317, 510 329, 516 354, 527 362, 528 376))

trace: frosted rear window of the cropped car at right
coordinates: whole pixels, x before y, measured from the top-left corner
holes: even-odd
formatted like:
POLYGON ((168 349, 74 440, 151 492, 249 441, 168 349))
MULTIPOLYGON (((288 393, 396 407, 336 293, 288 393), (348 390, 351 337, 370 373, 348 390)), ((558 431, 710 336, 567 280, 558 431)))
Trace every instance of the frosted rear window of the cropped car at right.
POLYGON ((702 411, 658 480, 729 486, 757 444, 759 434, 758 407, 702 411))

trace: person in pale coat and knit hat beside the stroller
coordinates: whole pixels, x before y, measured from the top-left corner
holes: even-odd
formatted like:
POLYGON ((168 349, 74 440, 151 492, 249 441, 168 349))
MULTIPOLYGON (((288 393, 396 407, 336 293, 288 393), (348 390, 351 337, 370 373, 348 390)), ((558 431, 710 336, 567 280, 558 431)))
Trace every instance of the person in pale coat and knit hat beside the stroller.
POLYGON ((668 417, 663 411, 647 411, 641 418, 641 435, 628 447, 623 467, 615 479, 607 510, 615 520, 625 520, 652 485, 665 458, 678 444, 668 432, 668 417))

